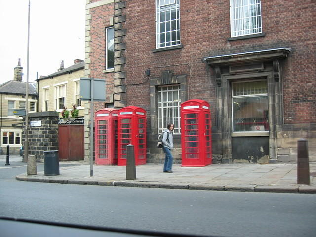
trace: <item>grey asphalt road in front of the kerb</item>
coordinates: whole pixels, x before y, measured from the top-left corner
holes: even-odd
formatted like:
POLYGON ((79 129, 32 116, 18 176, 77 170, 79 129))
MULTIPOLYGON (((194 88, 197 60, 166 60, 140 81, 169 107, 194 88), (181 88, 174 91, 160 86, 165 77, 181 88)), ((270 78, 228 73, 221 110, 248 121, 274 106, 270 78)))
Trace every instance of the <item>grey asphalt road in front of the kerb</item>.
POLYGON ((0 162, 0 216, 222 237, 316 236, 315 194, 22 182, 15 176, 26 164, 10 163, 0 162))

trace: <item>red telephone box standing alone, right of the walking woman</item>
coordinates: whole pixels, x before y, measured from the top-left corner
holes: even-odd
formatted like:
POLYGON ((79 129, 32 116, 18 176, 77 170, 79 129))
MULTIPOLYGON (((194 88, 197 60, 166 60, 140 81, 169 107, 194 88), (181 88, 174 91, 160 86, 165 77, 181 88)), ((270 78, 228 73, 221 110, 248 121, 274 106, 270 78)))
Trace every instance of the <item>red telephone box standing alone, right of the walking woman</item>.
POLYGON ((181 104, 182 166, 212 163, 212 125, 209 103, 188 100, 181 104))

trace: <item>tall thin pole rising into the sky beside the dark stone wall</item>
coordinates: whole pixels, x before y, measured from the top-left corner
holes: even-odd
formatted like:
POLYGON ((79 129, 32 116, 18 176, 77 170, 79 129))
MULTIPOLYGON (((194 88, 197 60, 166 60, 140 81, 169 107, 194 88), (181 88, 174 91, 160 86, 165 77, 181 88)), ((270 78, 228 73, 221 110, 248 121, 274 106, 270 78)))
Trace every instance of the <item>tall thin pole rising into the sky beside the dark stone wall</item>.
POLYGON ((29 18, 28 18, 28 48, 27 48, 27 66, 26 66, 26 102, 25 102, 25 140, 24 140, 24 161, 28 162, 29 154, 29 137, 28 137, 28 123, 29 123, 29 58, 30 58, 30 9, 31 0, 29 0, 29 18))

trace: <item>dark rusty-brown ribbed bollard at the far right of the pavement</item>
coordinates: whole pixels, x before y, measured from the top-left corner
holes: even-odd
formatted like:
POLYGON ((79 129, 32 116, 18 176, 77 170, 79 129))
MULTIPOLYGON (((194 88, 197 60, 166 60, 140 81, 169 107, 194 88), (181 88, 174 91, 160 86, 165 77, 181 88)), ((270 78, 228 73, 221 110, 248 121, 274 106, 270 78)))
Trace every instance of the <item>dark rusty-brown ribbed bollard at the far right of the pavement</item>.
POLYGON ((297 184, 310 185, 308 145, 305 139, 297 141, 297 184))

